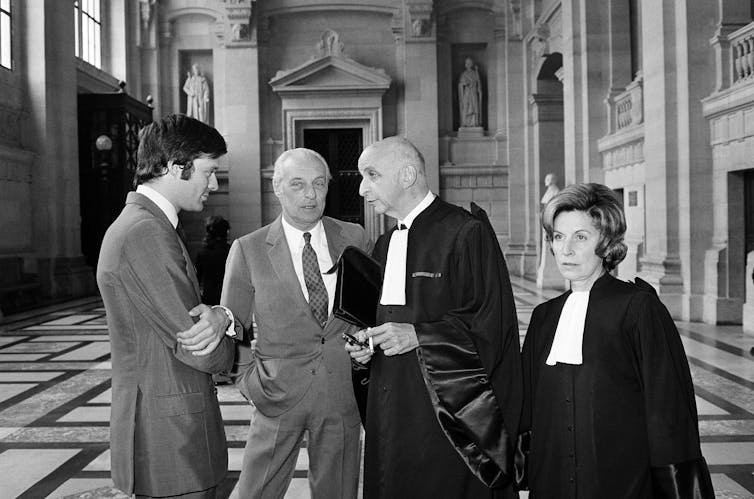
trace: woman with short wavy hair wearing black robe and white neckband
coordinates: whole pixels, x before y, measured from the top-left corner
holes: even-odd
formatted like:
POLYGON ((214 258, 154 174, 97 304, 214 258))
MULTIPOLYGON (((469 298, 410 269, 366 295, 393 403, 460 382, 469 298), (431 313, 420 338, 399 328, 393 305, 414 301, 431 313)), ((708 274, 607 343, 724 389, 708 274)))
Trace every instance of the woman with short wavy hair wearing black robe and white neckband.
POLYGON ((530 499, 713 498, 673 320, 649 284, 609 273, 626 254, 620 202, 571 185, 542 225, 571 290, 534 310, 524 341, 530 499))

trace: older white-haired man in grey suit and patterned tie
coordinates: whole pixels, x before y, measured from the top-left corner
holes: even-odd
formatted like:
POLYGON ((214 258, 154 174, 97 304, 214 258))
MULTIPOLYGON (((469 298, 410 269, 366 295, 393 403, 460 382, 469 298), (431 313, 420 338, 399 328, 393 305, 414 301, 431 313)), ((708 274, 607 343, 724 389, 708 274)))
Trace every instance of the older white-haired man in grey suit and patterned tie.
POLYGON ((348 245, 371 249, 361 226, 322 217, 330 173, 309 149, 285 151, 272 185, 282 214, 233 242, 221 303, 245 331, 256 320, 250 368, 239 380, 254 405, 239 497, 282 498, 308 434, 312 497, 356 497, 360 419, 351 362, 332 316, 335 276, 323 275, 348 245))

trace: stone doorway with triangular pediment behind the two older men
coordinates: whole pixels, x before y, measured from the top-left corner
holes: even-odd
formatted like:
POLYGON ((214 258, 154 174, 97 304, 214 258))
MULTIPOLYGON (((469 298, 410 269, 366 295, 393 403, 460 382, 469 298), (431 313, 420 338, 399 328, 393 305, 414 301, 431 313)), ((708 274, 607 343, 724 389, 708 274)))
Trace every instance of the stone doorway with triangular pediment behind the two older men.
POLYGON ((382 139, 382 96, 390 87, 385 71, 345 56, 339 35, 327 30, 320 56, 281 70, 270 80, 280 97, 283 149, 309 147, 330 164, 325 214, 361 223, 376 240, 384 232, 384 216, 358 194, 356 167, 364 147, 382 139))

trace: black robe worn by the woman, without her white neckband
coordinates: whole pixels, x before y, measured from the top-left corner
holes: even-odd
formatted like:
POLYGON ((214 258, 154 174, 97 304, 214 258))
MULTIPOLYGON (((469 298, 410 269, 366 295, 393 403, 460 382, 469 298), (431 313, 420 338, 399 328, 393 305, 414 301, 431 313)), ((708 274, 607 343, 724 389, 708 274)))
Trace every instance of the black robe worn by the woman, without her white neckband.
POLYGON ((653 288, 592 287, 583 364, 545 364, 569 292, 534 309, 523 347, 530 499, 713 498, 678 330, 653 288))

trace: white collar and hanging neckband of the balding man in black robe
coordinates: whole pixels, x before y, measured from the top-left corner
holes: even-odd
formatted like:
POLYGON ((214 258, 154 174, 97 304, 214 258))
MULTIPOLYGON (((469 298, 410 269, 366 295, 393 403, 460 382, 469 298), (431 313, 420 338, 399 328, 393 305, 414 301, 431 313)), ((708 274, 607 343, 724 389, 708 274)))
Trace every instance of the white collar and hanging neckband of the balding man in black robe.
POLYGON ((406 304, 406 252, 408 251, 408 232, 416 217, 426 210, 435 200, 432 191, 427 192, 416 207, 406 215, 403 220, 398 220, 398 226, 405 225, 406 229, 394 230, 390 236, 390 244, 387 248, 387 261, 385 262, 385 278, 382 281, 381 305, 405 305, 406 304))

